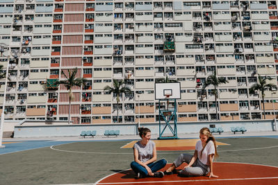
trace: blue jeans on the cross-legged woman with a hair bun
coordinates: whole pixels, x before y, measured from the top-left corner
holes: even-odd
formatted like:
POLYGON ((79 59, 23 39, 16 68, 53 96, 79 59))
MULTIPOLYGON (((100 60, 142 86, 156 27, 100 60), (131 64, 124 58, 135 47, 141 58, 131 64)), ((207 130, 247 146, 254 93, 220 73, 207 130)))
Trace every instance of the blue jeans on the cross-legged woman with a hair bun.
MULTIPOLYGON (((151 168, 151 170, 152 170, 152 173, 154 173, 154 172, 160 170, 161 168, 163 168, 164 166, 166 166, 166 164, 167 164, 167 161, 165 159, 161 159, 154 163, 147 164, 147 166, 149 166, 149 168, 151 168)), ((144 166, 141 166, 140 164, 138 164, 136 161, 131 162, 131 169, 135 173, 140 173, 143 177, 147 177, 147 175, 148 175, 147 169, 144 166)))

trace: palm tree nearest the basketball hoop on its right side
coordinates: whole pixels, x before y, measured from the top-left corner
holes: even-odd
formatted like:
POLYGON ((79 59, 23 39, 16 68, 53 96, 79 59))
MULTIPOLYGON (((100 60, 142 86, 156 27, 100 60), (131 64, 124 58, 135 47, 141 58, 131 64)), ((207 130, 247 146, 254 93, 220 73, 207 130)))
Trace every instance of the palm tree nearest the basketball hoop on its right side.
POLYGON ((213 89, 213 94, 215 96, 215 109, 216 109, 216 118, 217 120, 219 120, 218 117, 218 86, 221 84, 225 84, 227 83, 228 80, 226 80, 226 78, 224 77, 217 77, 216 76, 216 71, 214 71, 213 75, 208 76, 208 78, 206 78, 206 82, 204 82, 204 85, 202 87, 202 91, 204 91, 204 89, 206 89, 206 87, 208 87, 209 85, 213 85, 214 89, 213 89))

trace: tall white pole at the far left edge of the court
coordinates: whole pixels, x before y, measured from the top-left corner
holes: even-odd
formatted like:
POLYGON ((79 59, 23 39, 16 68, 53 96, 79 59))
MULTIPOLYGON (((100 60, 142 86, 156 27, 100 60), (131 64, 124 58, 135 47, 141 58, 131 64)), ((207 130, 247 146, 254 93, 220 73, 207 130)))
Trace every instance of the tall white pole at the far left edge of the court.
MULTIPOLYGON (((6 44, 0 44, 1 46, 1 57, 3 53, 2 47, 6 46, 6 44)), ((3 141, 3 124, 4 124, 4 110, 5 110, 5 103, 6 103, 6 89, 7 89, 7 84, 8 84, 8 68, 9 68, 9 60, 10 60, 10 55, 8 55, 8 61, 7 61, 7 69, 6 69, 6 80, 5 80, 5 89, 4 89, 4 96, 3 96, 3 108, 2 108, 2 113, 1 113, 1 121, 0 121, 0 148, 5 148, 6 146, 2 145, 3 141)))

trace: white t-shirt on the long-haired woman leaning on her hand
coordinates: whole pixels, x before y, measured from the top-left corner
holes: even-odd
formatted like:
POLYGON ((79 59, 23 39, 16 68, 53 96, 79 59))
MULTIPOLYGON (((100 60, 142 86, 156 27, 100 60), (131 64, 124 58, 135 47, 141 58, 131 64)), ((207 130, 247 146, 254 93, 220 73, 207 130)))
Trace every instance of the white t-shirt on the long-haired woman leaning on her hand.
POLYGON ((202 164, 206 164, 206 165, 209 164, 208 155, 215 154, 215 148, 214 148, 213 141, 208 141, 208 143, 206 143, 206 147, 204 148, 204 150, 203 150, 203 146, 202 146, 202 141, 197 141, 195 150, 197 150, 197 152, 198 152, 199 161, 201 161, 202 164), (202 153, 202 157, 201 157, 202 150, 203 150, 203 153, 202 153))

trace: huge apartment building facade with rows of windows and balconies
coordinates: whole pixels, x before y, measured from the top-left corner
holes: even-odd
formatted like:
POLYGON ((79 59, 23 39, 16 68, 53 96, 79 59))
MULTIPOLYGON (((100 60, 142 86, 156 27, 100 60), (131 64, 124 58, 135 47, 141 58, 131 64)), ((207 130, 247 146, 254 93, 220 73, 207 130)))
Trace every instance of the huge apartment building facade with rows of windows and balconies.
MULTIPOLYGON (((10 80, 0 80, 0 109, 6 119, 66 121, 67 89, 53 84, 77 68, 88 82, 73 89, 75 124, 117 121, 116 96, 103 90, 113 79, 132 90, 120 97, 120 122, 157 123, 154 83, 166 76, 181 82, 178 122, 215 121, 213 87, 202 85, 216 71, 229 81, 220 120, 261 119, 261 94, 249 89, 258 75, 277 85, 277 16, 277 1, 1 0, 10 80)), ((274 92, 265 91, 266 118, 278 109, 274 92)))

